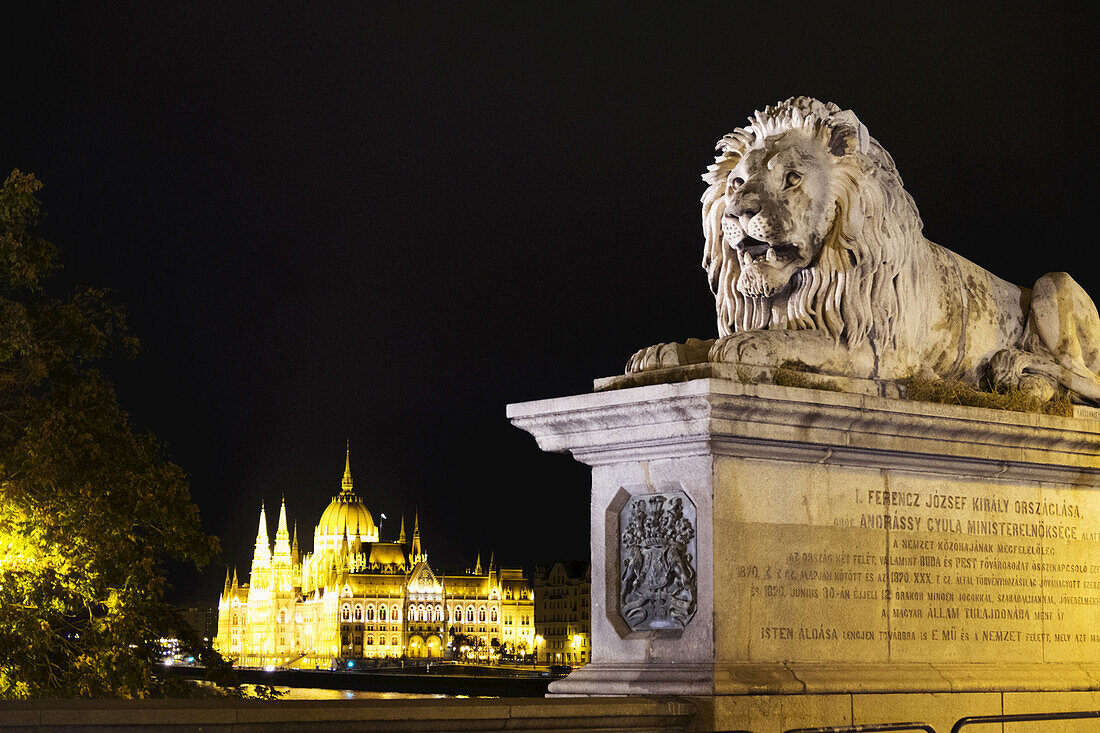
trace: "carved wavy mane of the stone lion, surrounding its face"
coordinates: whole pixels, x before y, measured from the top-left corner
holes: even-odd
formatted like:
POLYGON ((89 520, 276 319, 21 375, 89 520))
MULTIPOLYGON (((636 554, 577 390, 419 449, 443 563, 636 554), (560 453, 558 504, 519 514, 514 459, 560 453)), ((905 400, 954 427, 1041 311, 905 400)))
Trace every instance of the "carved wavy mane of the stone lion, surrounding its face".
POLYGON ((849 348, 869 335, 895 343, 901 306, 914 281, 904 276, 914 247, 926 245, 921 215, 904 189, 893 158, 850 111, 809 97, 767 107, 718 141, 718 154, 703 180, 703 267, 707 272, 721 336, 761 329, 822 329, 849 348), (726 179, 747 151, 794 129, 826 150, 845 151, 835 211, 816 261, 795 274, 783 299, 737 291, 740 263, 725 242, 726 179), (783 302, 785 299, 785 303, 783 302), (872 331, 872 329, 878 329, 872 331))

